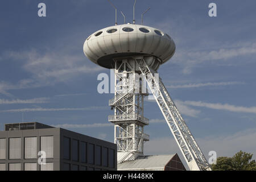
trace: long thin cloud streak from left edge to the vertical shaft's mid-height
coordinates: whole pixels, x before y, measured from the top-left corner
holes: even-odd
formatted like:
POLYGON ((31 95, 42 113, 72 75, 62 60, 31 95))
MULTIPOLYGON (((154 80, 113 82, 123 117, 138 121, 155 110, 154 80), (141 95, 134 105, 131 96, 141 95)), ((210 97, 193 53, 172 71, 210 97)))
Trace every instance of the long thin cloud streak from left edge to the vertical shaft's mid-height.
POLYGON ((82 108, 24 108, 0 110, 0 113, 20 113, 20 112, 38 112, 38 111, 80 111, 80 110, 105 110, 108 107, 91 106, 82 108))

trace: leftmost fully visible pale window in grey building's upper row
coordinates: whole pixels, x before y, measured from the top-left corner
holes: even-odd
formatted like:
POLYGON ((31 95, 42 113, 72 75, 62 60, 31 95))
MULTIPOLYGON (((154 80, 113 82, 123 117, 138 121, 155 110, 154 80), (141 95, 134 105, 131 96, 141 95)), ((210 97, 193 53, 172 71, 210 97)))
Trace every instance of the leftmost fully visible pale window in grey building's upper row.
POLYGON ((9 139, 9 159, 20 159, 20 138, 10 138, 9 139))

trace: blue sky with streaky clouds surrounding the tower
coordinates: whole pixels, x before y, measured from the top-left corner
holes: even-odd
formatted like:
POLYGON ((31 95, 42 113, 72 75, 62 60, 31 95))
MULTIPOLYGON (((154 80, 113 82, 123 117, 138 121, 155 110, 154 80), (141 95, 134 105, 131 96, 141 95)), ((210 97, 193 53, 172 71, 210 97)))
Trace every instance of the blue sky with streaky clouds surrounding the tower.
MULTIPOLYGON (((128 22, 133 1, 113 0, 128 22)), ((176 52, 159 76, 208 159, 242 150, 256 159, 256 2, 254 0, 138 0, 136 23, 174 39, 176 52), (216 3, 217 17, 208 15, 216 3)), ((97 76, 110 75, 85 57, 90 34, 114 25, 103 0, 0 2, 0 130, 5 123, 37 121, 114 142, 108 122, 113 94, 97 92, 97 76), (46 17, 38 4, 46 4, 46 17)), ((123 23, 118 14, 118 24, 123 23)), ((144 153, 182 158, 156 102, 145 101, 150 135, 144 153)))

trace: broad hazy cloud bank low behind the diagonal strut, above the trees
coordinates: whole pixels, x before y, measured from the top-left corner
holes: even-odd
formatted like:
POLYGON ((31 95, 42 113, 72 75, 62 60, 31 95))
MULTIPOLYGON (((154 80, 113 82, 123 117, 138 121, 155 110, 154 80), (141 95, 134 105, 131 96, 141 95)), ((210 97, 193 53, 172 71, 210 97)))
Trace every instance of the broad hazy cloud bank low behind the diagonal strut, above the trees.
MULTIPOLYGON (((203 151, 205 158, 209 158, 209 151, 216 151, 218 156, 233 156, 242 150, 254 154, 256 159, 256 129, 244 130, 230 135, 211 136, 207 138, 196 138, 199 147, 203 151)), ((172 135, 170 137, 150 139, 144 144, 146 155, 175 154, 183 159, 179 147, 172 135)))

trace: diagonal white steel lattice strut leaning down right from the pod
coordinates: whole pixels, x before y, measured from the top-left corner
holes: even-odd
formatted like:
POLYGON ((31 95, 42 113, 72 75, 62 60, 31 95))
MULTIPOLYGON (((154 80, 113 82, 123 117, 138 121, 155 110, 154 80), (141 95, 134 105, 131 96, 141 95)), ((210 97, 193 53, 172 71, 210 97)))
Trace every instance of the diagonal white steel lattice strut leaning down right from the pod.
POLYGON ((136 63, 141 69, 143 76, 146 78, 147 84, 155 97, 160 110, 174 138, 189 166, 193 171, 210 171, 211 168, 201 152, 196 140, 193 138, 184 119, 181 117, 177 107, 167 92, 162 80, 156 80, 154 74, 157 73, 148 67, 143 57, 135 57, 136 63))

